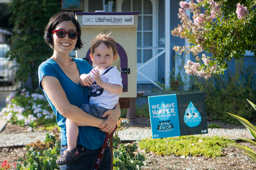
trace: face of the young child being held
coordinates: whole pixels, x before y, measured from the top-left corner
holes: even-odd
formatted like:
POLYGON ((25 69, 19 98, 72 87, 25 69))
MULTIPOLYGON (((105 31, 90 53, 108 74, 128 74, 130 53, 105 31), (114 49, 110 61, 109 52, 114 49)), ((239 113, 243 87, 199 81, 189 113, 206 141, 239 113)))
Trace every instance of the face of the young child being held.
POLYGON ((97 66, 97 69, 105 69, 111 66, 113 61, 116 61, 117 54, 114 56, 112 47, 104 43, 94 49, 94 54, 90 54, 92 61, 97 66))

